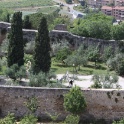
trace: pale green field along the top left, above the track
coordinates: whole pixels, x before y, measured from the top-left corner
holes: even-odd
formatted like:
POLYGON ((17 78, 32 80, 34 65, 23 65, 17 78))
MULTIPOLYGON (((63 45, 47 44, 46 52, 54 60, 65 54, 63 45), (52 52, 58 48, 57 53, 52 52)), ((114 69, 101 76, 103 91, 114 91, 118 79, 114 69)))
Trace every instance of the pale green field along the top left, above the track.
POLYGON ((23 8, 35 6, 51 6, 54 2, 52 0, 1 0, 0 8, 23 8))

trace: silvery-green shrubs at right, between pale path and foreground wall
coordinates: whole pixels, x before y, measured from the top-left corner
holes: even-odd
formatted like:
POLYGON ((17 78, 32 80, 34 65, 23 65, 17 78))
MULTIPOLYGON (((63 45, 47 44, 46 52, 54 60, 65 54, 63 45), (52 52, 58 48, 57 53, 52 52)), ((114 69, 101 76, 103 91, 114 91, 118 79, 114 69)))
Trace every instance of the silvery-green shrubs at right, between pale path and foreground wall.
POLYGON ((110 74, 107 72, 102 75, 95 74, 92 80, 94 82, 94 84, 91 85, 92 88, 118 88, 118 76, 115 73, 110 74))

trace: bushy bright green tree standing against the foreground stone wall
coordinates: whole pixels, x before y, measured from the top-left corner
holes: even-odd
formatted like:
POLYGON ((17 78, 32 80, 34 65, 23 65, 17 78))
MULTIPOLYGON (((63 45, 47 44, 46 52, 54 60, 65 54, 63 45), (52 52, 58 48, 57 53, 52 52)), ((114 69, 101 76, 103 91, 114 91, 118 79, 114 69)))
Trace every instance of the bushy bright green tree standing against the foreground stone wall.
POLYGON ((79 87, 75 86, 64 96, 64 108, 65 110, 73 113, 80 114, 87 107, 85 98, 79 87))

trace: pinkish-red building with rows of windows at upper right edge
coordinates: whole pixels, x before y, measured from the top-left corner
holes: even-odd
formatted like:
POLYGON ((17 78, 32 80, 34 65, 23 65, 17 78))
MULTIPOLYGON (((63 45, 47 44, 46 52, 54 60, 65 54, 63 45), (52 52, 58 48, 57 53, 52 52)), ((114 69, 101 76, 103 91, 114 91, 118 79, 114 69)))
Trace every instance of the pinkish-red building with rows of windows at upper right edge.
POLYGON ((101 11, 106 15, 114 16, 116 19, 124 20, 124 6, 103 6, 101 11))

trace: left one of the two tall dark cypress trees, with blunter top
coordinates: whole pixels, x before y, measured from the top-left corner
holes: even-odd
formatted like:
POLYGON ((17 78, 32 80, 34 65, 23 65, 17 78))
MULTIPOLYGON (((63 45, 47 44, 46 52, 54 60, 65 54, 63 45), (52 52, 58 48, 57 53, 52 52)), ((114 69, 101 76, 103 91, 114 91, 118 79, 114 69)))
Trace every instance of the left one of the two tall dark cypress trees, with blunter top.
POLYGON ((22 13, 16 12, 13 14, 11 23, 11 31, 9 34, 8 46, 8 67, 13 64, 21 66, 24 64, 24 45, 22 32, 22 13))

